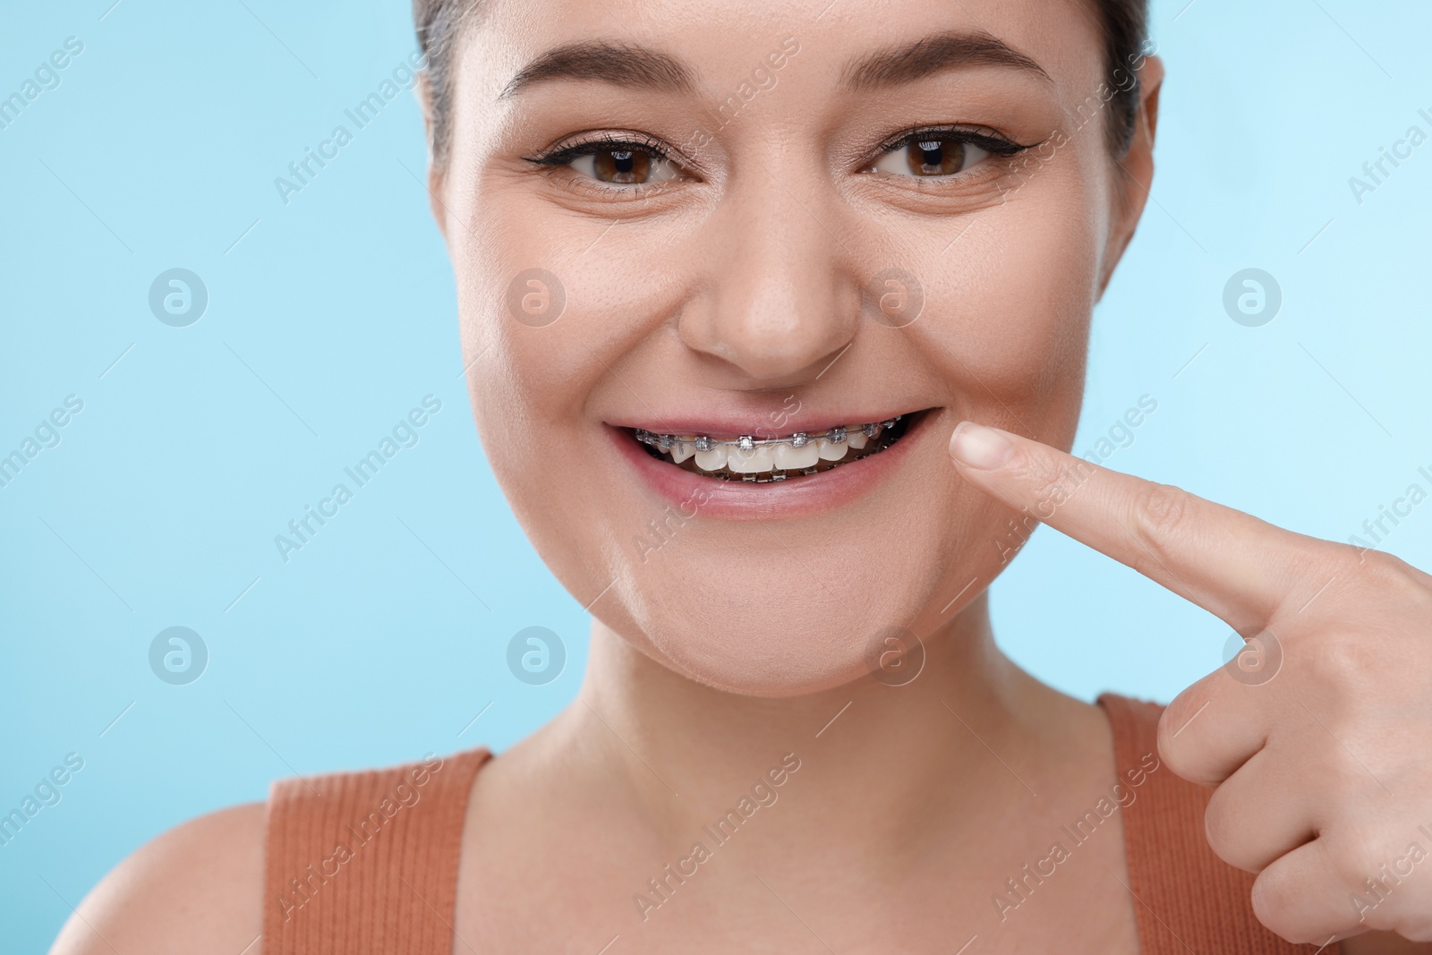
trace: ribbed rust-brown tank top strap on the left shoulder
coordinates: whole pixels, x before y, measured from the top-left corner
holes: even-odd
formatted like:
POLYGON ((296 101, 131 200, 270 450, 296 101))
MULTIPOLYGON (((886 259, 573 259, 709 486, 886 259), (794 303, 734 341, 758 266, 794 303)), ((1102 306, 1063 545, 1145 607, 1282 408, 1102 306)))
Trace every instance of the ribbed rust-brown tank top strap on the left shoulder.
POLYGON ((463 820, 490 757, 275 782, 263 955, 451 955, 463 820))

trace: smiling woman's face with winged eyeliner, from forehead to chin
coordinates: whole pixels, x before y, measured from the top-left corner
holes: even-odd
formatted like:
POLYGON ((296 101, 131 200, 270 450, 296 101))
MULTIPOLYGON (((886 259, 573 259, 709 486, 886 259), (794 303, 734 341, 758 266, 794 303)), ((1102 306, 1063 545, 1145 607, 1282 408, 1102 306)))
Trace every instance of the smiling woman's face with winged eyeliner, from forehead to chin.
POLYGON ((488 10, 435 205, 483 445, 579 601, 680 673, 789 696, 984 590, 1020 538, 949 434, 1070 447, 1141 206, 1101 50, 1080 0, 488 10))

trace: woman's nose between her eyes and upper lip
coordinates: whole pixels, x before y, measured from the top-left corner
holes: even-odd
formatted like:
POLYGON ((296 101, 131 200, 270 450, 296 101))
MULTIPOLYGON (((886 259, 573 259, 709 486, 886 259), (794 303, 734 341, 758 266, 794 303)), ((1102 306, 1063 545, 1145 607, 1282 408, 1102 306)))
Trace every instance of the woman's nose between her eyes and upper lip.
POLYGON ((706 294, 683 309, 682 341, 758 382, 809 379, 851 344, 859 289, 842 268, 836 213, 753 178, 707 220, 706 294))

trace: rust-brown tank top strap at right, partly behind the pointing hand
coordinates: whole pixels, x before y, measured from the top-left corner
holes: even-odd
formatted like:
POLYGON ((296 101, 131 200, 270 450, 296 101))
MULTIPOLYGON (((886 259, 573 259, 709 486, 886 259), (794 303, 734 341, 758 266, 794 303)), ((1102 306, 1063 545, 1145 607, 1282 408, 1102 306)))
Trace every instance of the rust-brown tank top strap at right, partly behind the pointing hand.
MULTIPOLYGON (((1106 693, 1098 704, 1114 730, 1118 780, 1133 793, 1123 810, 1128 891, 1143 955, 1309 955, 1253 915, 1253 875, 1209 848, 1203 815, 1210 789, 1176 776, 1158 759, 1164 707, 1106 693)), ((1320 955, 1337 955, 1337 944, 1320 955)))

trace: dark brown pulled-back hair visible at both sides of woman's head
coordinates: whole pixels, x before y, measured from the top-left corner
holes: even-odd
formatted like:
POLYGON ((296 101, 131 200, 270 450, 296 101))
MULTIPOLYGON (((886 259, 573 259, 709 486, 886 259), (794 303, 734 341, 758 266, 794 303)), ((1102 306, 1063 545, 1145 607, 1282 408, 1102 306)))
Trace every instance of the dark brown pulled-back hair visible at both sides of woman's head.
MULTIPOLYGON (((1133 142, 1138 120, 1138 80, 1148 40, 1148 0, 1087 0, 1104 31, 1104 82, 1113 90, 1106 125, 1114 156, 1133 142)), ((447 165, 453 116, 453 57, 464 34, 485 14, 484 0, 412 0, 412 23, 427 57, 424 80, 432 117, 432 163, 447 165)))

